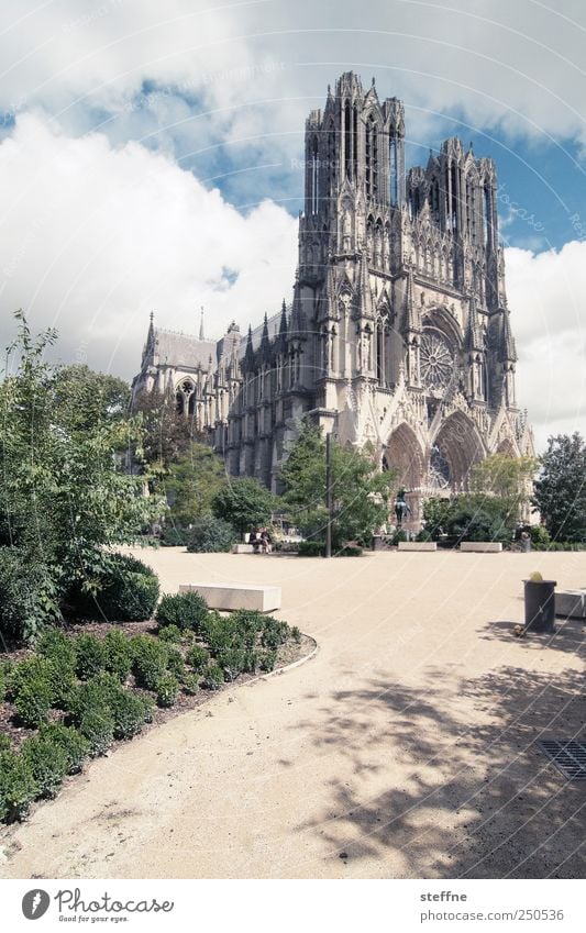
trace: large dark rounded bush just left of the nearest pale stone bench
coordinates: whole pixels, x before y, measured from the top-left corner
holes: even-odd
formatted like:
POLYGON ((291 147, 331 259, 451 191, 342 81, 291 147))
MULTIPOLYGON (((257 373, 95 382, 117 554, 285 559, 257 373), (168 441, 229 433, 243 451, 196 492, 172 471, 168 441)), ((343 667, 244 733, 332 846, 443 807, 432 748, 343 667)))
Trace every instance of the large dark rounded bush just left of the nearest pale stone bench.
POLYGON ((82 618, 142 622, 153 615, 159 595, 158 578, 136 557, 110 555, 108 569, 93 582, 95 596, 82 592, 78 586, 68 595, 71 609, 82 618))

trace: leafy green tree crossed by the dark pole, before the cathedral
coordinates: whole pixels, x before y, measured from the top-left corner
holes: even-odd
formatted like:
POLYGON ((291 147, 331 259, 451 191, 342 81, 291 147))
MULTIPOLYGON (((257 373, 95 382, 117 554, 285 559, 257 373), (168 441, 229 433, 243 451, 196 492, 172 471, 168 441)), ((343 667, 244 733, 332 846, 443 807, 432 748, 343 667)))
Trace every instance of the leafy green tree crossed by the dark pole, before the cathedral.
MULTIPOLYGON (((284 501, 291 520, 312 537, 323 537, 327 464, 325 438, 309 419, 299 425, 299 437, 280 470, 284 501)), ((369 447, 332 445, 333 543, 368 538, 388 518, 388 501, 396 473, 382 473, 369 447)))

